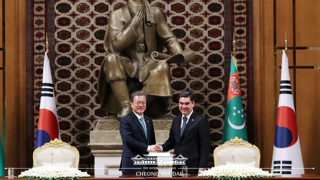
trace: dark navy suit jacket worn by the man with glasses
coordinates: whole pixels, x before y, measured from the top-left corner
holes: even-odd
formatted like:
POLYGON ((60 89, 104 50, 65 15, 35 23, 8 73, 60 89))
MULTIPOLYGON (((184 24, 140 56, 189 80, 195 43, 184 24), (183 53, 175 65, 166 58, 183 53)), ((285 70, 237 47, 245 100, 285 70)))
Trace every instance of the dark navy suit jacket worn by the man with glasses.
POLYGON ((156 144, 152 119, 145 115, 143 115, 143 118, 146 122, 148 140, 144 134, 140 120, 133 113, 133 111, 128 115, 125 115, 120 120, 119 130, 122 138, 122 157, 120 169, 122 170, 122 173, 135 174, 136 172, 146 171, 143 169, 143 167, 147 167, 147 165, 133 165, 133 160, 131 159, 136 157, 138 154, 141 157, 144 157, 143 154, 148 154, 148 145, 156 144))

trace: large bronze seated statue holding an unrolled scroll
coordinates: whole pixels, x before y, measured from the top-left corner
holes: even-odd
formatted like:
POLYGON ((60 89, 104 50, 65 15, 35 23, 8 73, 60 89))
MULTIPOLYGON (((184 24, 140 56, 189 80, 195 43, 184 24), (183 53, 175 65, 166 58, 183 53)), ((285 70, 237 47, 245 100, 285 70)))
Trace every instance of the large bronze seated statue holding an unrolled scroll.
POLYGON ((168 63, 183 67, 195 59, 193 51, 182 51, 164 12, 146 0, 129 0, 110 13, 104 48, 108 55, 98 77, 100 108, 118 120, 132 111, 129 94, 136 90, 147 94, 149 116, 170 111, 168 63), (162 53, 164 46, 172 56, 162 53))

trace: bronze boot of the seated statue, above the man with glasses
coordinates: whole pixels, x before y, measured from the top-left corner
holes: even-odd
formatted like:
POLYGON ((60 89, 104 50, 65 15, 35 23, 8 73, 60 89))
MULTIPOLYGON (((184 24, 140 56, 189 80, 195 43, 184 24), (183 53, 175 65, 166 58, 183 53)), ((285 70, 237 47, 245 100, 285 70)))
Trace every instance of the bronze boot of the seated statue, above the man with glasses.
POLYGON ((132 111, 127 83, 125 81, 115 81, 110 83, 110 86, 121 107, 121 111, 117 114, 117 119, 120 121, 122 117, 132 111))

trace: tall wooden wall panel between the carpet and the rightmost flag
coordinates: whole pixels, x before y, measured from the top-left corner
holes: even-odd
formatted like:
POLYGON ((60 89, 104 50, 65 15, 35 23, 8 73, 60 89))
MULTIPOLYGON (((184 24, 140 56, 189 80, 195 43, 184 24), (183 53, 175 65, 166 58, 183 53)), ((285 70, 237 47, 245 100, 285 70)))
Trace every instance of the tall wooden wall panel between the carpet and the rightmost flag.
POLYGON ((271 167, 273 137, 265 138, 275 132, 273 123, 274 114, 274 95, 273 82, 268 79, 274 77, 274 47, 273 41, 273 0, 258 0, 253 2, 253 35, 254 35, 254 126, 255 126, 255 145, 261 152, 261 168, 271 167), (267 9, 268 11, 265 11, 267 9), (259 49, 259 51, 256 51, 259 49), (271 56, 270 56, 271 54, 271 56), (267 87, 267 88, 266 88, 267 87))

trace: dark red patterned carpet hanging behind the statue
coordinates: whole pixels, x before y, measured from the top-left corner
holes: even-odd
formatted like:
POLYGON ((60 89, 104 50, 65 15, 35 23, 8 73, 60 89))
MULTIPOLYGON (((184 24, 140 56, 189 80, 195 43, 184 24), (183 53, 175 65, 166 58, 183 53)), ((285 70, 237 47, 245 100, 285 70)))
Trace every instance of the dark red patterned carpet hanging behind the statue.
MULTIPOLYGON (((229 78, 232 34, 247 122, 253 143, 252 0, 148 0, 161 8, 184 50, 196 60, 183 69, 171 65, 172 114, 180 113, 178 96, 192 91, 195 111, 210 122, 212 152, 220 145, 229 78)), ((80 167, 93 168, 89 132, 98 119, 97 78, 107 55, 103 38, 110 12, 123 0, 29 0, 27 2, 27 126, 28 165, 36 137, 40 105, 45 32, 49 39, 61 138, 80 152, 80 167)), ((212 156, 212 154, 211 154, 212 156)), ((213 166, 213 158, 210 159, 213 166)), ((93 169, 88 169, 93 174, 93 169)))

